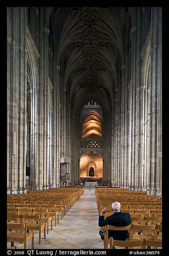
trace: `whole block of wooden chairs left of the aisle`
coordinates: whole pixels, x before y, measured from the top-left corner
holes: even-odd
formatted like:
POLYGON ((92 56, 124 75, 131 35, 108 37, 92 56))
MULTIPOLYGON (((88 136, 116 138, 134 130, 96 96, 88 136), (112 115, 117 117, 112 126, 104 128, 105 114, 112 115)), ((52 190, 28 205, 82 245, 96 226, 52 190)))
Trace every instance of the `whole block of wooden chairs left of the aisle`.
POLYGON ((32 239, 32 248, 34 248, 34 232, 36 231, 39 233, 39 244, 41 244, 41 233, 43 232, 43 238, 46 239, 49 224, 52 230, 53 217, 55 217, 56 225, 56 222, 59 222, 59 211, 63 218, 84 193, 84 188, 61 190, 61 193, 58 188, 52 189, 52 192, 47 191, 47 193, 29 191, 29 195, 7 197, 7 241, 11 242, 9 248, 16 248, 14 242, 24 243, 24 248, 27 248, 27 241, 30 239, 32 239), (62 202, 64 202, 63 205, 62 202))

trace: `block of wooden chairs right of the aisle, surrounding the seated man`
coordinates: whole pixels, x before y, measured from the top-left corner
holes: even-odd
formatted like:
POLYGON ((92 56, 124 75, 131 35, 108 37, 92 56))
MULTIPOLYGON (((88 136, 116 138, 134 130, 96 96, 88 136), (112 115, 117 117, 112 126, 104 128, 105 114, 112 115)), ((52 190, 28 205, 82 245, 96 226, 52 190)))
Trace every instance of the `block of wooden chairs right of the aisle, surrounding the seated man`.
MULTIPOLYGON (((98 214, 101 214, 101 210, 106 207, 107 211, 104 218, 113 214, 111 209, 111 203, 118 201, 121 204, 122 212, 129 212, 132 219, 132 224, 127 227, 113 227, 106 225, 101 227, 101 230, 105 232, 104 248, 108 248, 111 241, 111 248, 115 245, 119 245, 121 242, 113 238, 108 239, 108 230, 126 230, 129 231, 128 245, 125 247, 132 247, 132 243, 138 244, 141 248, 149 246, 149 240, 157 242, 156 246, 162 247, 162 196, 148 196, 141 191, 129 191, 127 189, 119 188, 96 188, 96 202, 98 208, 98 214), (145 228, 145 229, 143 229, 145 228), (113 243, 114 241, 114 243, 113 243)), ((122 244, 121 243, 121 244, 122 244)), ((119 245, 120 246, 120 245, 119 245)))

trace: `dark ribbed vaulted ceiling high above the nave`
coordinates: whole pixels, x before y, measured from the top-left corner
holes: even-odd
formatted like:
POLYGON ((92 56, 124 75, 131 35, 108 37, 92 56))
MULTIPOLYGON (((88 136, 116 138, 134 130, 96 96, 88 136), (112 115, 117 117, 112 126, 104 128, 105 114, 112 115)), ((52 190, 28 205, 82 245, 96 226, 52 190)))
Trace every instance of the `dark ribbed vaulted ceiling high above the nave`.
POLYGON ((57 7, 52 16, 70 101, 82 108, 93 99, 110 108, 128 42, 127 8, 57 7))

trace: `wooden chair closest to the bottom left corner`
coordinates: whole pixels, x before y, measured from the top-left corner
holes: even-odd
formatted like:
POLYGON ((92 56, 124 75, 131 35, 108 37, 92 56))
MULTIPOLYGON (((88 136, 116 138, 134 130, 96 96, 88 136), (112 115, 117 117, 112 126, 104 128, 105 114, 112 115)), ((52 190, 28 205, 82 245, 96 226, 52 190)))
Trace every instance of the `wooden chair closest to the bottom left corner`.
POLYGON ((26 249, 27 241, 32 239, 32 249, 34 249, 34 232, 27 233, 27 223, 23 223, 23 221, 16 225, 7 223, 7 229, 18 230, 7 232, 7 241, 11 242, 11 247, 14 246, 14 242, 18 242, 24 243, 24 249, 26 249))

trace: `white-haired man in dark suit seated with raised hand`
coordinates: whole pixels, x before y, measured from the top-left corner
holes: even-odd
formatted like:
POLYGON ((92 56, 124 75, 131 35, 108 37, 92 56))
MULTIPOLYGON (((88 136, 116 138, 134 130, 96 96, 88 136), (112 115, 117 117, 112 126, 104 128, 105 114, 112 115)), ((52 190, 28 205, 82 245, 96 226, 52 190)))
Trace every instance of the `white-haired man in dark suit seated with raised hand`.
MULTIPOLYGON (((107 209, 102 209, 101 215, 99 215, 98 219, 98 226, 128 226, 129 224, 132 223, 132 220, 130 219, 130 214, 128 212, 120 211, 121 204, 119 202, 112 203, 111 207, 113 210, 113 214, 107 216, 105 219, 104 214, 107 211, 107 209)), ((101 230, 99 231, 99 235, 101 236, 102 240, 104 240, 104 234, 105 232, 102 232, 101 230)), ((114 240, 125 241, 129 237, 129 232, 128 230, 109 230, 108 237, 113 237, 114 240)))

